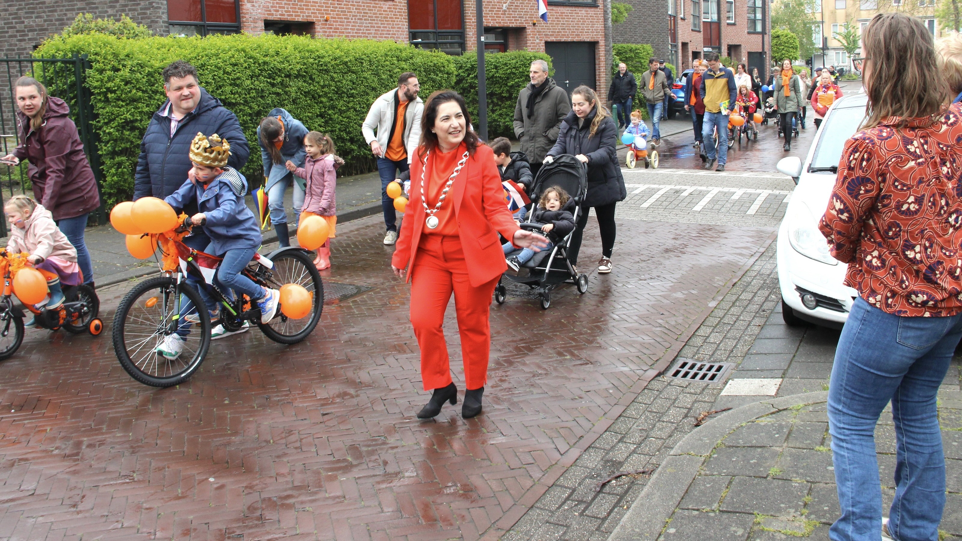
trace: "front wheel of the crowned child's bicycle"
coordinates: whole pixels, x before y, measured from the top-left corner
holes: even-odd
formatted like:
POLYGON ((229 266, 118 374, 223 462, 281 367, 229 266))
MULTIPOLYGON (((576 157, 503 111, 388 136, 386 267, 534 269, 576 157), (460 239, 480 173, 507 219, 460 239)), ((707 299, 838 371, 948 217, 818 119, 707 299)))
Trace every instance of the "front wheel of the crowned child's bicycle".
POLYGON ((179 290, 186 299, 178 299, 174 278, 141 282, 127 293, 114 315, 114 353, 131 378, 146 385, 169 387, 187 381, 211 345, 211 318, 207 310, 200 309, 196 310, 200 323, 190 326, 180 355, 169 358, 158 352, 181 304, 204 306, 200 294, 187 283, 181 283, 179 290))

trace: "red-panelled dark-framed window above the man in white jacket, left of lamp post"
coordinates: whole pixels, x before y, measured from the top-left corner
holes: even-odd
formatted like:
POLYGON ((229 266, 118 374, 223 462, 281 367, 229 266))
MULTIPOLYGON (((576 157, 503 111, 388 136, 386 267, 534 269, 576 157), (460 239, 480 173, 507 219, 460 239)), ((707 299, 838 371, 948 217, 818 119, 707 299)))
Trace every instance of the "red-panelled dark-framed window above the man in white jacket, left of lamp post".
POLYGON ((465 52, 465 18, 462 0, 408 0, 411 44, 449 55, 465 52))

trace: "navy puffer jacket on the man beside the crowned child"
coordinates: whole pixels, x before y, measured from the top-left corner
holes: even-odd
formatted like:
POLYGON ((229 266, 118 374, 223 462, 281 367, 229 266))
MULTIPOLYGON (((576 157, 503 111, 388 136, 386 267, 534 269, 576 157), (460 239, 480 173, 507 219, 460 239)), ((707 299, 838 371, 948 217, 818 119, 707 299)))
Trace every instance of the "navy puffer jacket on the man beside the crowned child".
POLYGON ((197 109, 181 119, 173 137, 170 136, 170 118, 162 114, 169 104, 169 100, 165 101, 154 113, 140 141, 140 157, 134 175, 135 200, 149 195, 164 199, 184 184, 193 166, 188 156, 190 141, 198 132, 227 139, 231 143, 227 165, 239 171, 250 156, 250 147, 238 117, 207 90, 200 89, 197 109))

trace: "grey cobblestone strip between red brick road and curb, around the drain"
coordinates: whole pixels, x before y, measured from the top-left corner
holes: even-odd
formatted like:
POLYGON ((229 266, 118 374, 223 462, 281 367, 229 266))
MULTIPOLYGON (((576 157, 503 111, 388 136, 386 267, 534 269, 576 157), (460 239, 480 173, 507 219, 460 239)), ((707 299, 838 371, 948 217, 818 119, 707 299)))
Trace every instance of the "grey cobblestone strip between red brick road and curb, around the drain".
MULTIPOLYGON (((779 302, 775 245, 756 259, 681 350, 679 357, 739 362, 779 302)), ((580 455, 502 539, 603 540, 645 489, 646 475, 597 483, 625 471, 657 468, 722 384, 660 376, 580 455)), ((710 538, 710 537, 708 537, 710 538)))

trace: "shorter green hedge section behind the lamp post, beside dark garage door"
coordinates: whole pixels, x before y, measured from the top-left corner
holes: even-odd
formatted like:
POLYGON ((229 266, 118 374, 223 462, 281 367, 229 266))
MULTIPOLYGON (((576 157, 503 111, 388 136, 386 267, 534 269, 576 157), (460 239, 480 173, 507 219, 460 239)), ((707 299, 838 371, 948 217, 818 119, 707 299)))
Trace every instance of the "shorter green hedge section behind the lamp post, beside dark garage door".
MULTIPOLYGON (((465 97, 471 120, 477 126, 478 119, 478 59, 469 51, 460 57, 452 57, 455 66, 454 89, 465 97)), ((552 73, 551 57, 531 51, 509 51, 485 54, 485 87, 488 90, 488 138, 515 137, 515 105, 518 93, 531 83, 528 72, 532 61, 546 61, 548 73, 552 73)), ((426 95, 425 95, 426 97, 426 95)))

